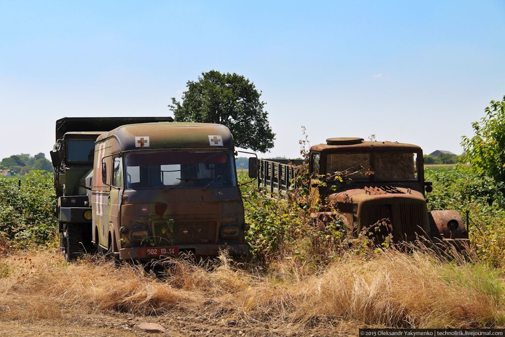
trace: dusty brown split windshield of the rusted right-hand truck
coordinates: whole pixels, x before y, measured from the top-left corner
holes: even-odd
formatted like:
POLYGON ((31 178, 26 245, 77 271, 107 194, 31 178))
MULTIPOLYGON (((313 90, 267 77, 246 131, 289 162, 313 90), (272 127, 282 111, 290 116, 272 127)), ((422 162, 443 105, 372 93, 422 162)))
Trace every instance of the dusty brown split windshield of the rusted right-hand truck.
POLYGON ((335 153, 326 159, 327 173, 341 172, 355 181, 417 180, 417 154, 412 152, 335 153))

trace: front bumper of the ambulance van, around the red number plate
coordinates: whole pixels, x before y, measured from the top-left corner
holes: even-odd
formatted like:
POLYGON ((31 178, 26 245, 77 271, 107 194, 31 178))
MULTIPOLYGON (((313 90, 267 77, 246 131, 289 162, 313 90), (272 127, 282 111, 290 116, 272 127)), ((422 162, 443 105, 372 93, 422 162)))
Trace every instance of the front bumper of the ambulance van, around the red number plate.
MULTIPOLYGON (((170 247, 155 247, 155 248, 173 248, 170 247)), ((197 257, 217 257, 220 251, 228 251, 231 256, 247 256, 249 247, 247 245, 194 245, 194 246, 177 246, 180 252, 191 252, 197 257)), ((119 258, 121 260, 152 260, 156 257, 139 256, 138 250, 141 247, 122 248, 119 250, 119 258)), ((164 256, 160 256, 164 257, 164 256)))

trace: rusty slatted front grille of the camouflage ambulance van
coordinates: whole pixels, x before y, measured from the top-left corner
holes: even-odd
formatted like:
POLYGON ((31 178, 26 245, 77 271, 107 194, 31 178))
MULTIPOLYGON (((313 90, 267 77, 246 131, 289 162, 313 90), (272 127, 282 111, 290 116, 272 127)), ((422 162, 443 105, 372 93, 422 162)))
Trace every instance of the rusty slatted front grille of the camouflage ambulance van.
POLYGON ((217 222, 155 220, 152 226, 158 245, 216 243, 217 222))

